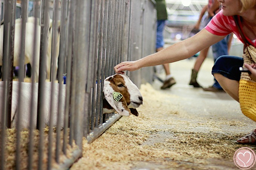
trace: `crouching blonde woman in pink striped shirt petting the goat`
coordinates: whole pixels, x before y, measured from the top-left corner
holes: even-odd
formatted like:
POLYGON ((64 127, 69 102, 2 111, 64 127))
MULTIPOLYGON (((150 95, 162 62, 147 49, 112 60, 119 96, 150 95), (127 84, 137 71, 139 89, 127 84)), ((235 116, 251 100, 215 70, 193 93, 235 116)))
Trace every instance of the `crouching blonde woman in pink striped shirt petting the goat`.
MULTIPOLYGON (((135 71, 142 67, 187 59, 204 48, 221 41, 232 32, 245 46, 249 44, 256 48, 256 0, 218 0, 218 2, 221 3, 221 11, 199 33, 140 60, 119 63, 114 66, 115 72, 124 74, 123 71, 125 70, 135 71)), ((221 84, 221 87, 237 102, 239 102, 238 89, 241 77, 239 67, 242 67, 243 64, 244 59, 242 57, 221 56, 212 68, 212 74, 221 84)), ((256 71, 253 70, 255 64, 245 64, 244 66, 250 69, 250 76, 255 81, 256 71)), ((254 107, 256 106, 254 105, 254 107)), ((250 119, 253 120, 253 118, 250 119)), ((254 121, 256 122, 255 119, 254 121)), ((256 144, 256 129, 238 139, 237 142, 256 144)))

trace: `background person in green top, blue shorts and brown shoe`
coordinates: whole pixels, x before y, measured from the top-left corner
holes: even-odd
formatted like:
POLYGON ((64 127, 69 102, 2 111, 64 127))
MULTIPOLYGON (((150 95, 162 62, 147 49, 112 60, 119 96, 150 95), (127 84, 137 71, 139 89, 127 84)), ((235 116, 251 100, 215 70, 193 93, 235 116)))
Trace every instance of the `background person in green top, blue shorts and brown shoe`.
MULTIPOLYGON (((165 44, 163 40, 163 30, 165 28, 166 20, 168 19, 167 11, 166 11, 166 3, 165 0, 155 0, 156 2, 156 10, 157 10, 157 36, 156 36, 156 52, 163 50, 163 46, 165 44)), ((171 75, 169 63, 163 64, 165 69, 166 78, 163 82, 161 89, 170 88, 172 85, 176 83, 174 78, 171 75)))

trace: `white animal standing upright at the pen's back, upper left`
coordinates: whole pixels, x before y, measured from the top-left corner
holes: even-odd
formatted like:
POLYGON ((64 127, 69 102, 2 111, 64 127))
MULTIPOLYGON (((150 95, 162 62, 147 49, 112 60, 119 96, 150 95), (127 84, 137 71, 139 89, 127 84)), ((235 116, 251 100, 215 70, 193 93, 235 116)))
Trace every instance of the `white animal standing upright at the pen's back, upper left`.
MULTIPOLYGON (((39 77, 39 56, 40 56, 40 32, 41 26, 36 25, 37 36, 36 36, 36 46, 35 46, 35 60, 36 63, 33 66, 33 48, 34 48, 34 37, 35 37, 35 17, 29 17, 26 23, 26 35, 25 35, 25 58, 24 64, 30 63, 32 69, 35 69, 36 72, 36 81, 38 82, 39 77)), ((47 78, 50 78, 50 62, 51 62, 51 49, 52 49, 52 20, 50 20, 49 29, 48 29, 48 47, 47 47, 47 57, 46 57, 46 72, 47 78)), ((15 20, 15 35, 14 35, 14 66, 19 65, 20 59, 20 39, 21 39, 21 19, 15 20)), ((55 71, 58 68, 58 56, 59 56, 59 32, 57 36, 56 47, 56 56, 53 59, 56 61, 55 71)), ((3 25, 0 27, 0 65, 3 63, 3 25)))

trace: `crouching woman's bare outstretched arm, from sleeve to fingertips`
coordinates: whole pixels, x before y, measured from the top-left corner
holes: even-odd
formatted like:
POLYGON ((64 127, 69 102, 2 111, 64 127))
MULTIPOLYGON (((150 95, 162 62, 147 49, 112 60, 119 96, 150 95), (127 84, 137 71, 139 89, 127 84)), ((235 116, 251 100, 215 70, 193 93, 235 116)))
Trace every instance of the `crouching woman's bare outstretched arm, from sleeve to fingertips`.
POLYGON ((124 71, 135 71, 143 67, 162 65, 166 63, 173 63, 180 60, 187 59, 206 47, 209 47, 221 39, 226 37, 214 35, 206 29, 202 29, 196 35, 177 42, 157 53, 143 57, 142 59, 133 62, 122 62, 114 66, 114 70, 118 74, 124 74, 124 71))

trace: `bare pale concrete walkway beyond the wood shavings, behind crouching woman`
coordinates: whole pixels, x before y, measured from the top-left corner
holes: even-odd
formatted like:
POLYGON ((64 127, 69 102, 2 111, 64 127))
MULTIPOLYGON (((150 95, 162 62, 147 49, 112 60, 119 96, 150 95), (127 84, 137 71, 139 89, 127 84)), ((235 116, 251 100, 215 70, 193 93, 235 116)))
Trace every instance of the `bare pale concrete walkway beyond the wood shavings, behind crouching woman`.
MULTIPOLYGON (((202 88, 194 88, 189 85, 191 70, 194 67, 195 59, 195 57, 192 57, 191 59, 170 64, 171 74, 174 76, 177 83, 170 89, 164 91, 182 97, 181 100, 184 101, 182 102, 184 109, 188 110, 191 114, 196 113, 198 116, 212 118, 244 119, 250 123, 250 128, 256 128, 256 124, 241 113, 239 103, 226 92, 206 92, 202 88)), ((197 80, 203 87, 212 86, 214 82, 213 75, 211 74, 212 66, 213 59, 207 58, 199 71, 197 80)), ((163 70, 157 75, 161 78, 165 77, 163 70)), ((160 90, 162 82, 155 79, 152 86, 160 90)), ((247 131, 245 130, 244 132, 247 133, 247 131)))

